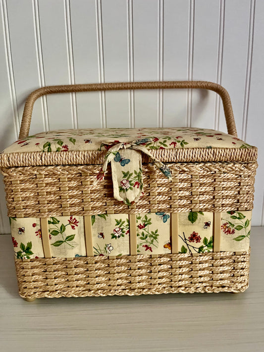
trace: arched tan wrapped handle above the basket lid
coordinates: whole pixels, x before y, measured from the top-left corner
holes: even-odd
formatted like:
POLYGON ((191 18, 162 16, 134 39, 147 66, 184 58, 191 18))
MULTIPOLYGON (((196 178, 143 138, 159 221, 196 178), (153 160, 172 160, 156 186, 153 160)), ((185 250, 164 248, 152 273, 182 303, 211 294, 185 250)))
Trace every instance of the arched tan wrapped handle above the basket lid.
POLYGON ((96 83, 96 84, 71 84, 64 86, 47 86, 33 91, 27 98, 19 139, 28 137, 34 102, 45 95, 54 93, 95 92, 95 91, 120 91, 135 89, 208 89, 222 99, 227 131, 237 137, 236 125, 229 94, 219 84, 206 81, 161 81, 161 82, 124 82, 124 83, 96 83))

